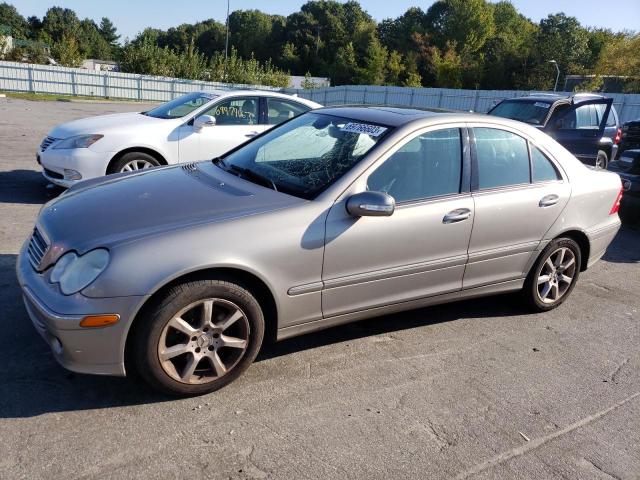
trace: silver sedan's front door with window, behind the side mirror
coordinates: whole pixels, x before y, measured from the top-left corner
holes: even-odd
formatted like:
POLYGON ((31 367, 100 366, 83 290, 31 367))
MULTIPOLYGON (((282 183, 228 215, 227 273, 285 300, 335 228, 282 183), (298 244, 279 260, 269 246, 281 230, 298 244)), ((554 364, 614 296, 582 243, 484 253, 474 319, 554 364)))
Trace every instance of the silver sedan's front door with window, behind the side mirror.
POLYGON ((326 222, 325 317, 462 288, 474 206, 463 128, 413 134, 362 175, 350 193, 385 192, 390 217, 350 216, 346 198, 326 222))

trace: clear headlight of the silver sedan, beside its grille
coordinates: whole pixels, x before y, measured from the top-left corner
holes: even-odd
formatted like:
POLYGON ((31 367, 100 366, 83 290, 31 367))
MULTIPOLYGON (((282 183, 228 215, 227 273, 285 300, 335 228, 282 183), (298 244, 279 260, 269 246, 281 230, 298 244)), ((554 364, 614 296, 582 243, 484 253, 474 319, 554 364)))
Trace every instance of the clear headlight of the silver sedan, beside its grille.
POLYGON ((109 252, 104 248, 91 250, 82 256, 69 252, 58 260, 51 272, 51 283, 59 283, 65 295, 79 292, 98 275, 104 272, 109 264, 109 252))

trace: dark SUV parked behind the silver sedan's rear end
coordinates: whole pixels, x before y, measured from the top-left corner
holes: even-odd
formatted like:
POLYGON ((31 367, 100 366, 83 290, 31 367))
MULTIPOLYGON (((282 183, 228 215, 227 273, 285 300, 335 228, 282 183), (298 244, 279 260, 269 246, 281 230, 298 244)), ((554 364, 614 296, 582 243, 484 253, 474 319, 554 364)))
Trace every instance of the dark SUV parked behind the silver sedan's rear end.
POLYGON ((622 130, 613 100, 601 95, 535 94, 502 100, 489 115, 528 123, 555 138, 581 162, 607 168, 622 130))

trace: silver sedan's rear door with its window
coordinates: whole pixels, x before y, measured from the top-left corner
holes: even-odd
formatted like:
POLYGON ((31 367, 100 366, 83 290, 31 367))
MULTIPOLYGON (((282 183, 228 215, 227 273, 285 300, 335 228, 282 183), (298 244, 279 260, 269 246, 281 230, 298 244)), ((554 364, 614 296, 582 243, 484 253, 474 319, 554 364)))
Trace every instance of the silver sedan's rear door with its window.
POLYGON ((475 220, 465 289, 525 276, 571 194, 559 166, 518 134, 476 127, 473 138, 475 220))

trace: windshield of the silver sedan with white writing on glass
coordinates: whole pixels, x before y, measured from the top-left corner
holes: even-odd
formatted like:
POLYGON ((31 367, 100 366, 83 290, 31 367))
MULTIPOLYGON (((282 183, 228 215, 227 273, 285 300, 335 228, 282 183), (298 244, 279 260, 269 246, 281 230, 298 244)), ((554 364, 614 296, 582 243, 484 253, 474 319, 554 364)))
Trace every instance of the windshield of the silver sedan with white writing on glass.
POLYGON ((349 171, 390 130, 306 113, 216 163, 246 180, 311 199, 349 171))

